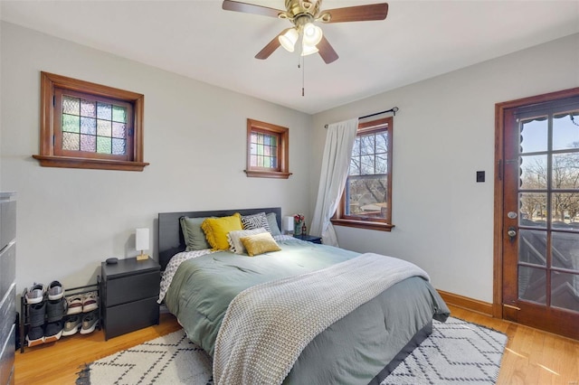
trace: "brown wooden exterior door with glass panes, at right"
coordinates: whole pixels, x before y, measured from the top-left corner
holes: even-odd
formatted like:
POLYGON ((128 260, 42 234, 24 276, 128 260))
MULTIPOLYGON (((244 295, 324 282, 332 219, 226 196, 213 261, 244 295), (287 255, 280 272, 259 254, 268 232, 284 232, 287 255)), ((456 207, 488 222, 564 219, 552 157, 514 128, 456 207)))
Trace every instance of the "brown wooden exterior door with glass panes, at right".
POLYGON ((502 316, 579 339, 579 89, 499 106, 502 316))

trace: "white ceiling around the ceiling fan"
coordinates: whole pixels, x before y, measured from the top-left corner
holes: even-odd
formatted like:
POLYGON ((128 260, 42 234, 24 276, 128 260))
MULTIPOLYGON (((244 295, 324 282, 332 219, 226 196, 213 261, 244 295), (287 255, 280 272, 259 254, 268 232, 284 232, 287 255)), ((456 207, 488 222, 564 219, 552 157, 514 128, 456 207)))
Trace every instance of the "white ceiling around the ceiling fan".
MULTIPOLYGON (((283 0, 244 0, 284 8, 283 0)), ((380 0, 324 0, 322 9, 380 0)), ((321 24, 339 59, 279 48, 285 20, 221 0, 6 1, 2 20, 314 114, 579 32, 579 1, 389 1, 386 20, 321 24), (305 96, 301 96, 302 77, 305 96)), ((556 60, 556 58, 554 58, 556 60)))

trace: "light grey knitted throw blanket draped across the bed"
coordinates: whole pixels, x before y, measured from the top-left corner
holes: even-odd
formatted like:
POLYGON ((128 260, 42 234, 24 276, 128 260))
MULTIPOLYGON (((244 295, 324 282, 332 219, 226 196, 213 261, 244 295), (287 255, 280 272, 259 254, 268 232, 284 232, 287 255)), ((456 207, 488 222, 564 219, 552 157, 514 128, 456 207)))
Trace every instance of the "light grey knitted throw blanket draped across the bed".
POLYGON ((429 279, 410 262, 367 253, 242 291, 215 341, 215 383, 281 383, 318 333, 408 277, 429 279))

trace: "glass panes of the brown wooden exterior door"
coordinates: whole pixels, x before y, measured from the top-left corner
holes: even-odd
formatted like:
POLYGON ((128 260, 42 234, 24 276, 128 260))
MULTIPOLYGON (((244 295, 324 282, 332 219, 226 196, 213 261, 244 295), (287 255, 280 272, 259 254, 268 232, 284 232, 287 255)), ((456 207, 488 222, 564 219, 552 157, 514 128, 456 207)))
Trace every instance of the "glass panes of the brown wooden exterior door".
POLYGON ((518 299, 579 312, 579 109, 517 123, 518 299))

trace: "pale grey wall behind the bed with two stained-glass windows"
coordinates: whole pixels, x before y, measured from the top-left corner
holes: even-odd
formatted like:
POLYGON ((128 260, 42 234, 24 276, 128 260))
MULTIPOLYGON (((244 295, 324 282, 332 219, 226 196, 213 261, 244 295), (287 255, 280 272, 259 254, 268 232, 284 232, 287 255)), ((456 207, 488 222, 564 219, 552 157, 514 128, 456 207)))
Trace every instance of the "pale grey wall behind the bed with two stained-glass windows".
POLYGON ((280 206, 308 212, 311 117, 289 108, 2 23, 1 185, 18 192, 17 290, 96 282, 100 262, 136 255, 157 213, 280 206), (142 173, 41 167, 40 71, 145 95, 142 173), (289 180, 243 173, 246 118, 289 127, 289 180))

